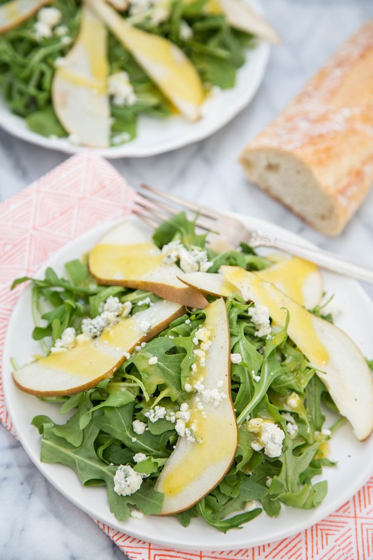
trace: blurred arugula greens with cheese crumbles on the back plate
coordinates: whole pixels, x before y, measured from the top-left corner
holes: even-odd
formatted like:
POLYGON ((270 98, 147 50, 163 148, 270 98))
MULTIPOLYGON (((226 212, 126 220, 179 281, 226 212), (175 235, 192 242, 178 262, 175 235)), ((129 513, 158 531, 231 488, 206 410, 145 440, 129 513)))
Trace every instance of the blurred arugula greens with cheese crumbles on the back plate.
MULTIPOLYGON (((0 6, 7 1, 0 0, 0 6)), ((126 10, 118 13, 138 29, 177 45, 196 68, 205 94, 210 95, 213 88, 234 87, 237 70, 245 62, 247 48, 254 45, 254 36, 231 27, 224 13, 206 14, 206 3, 207 0, 131 0, 126 10)), ((54 0, 49 7, 0 34, 2 95, 12 112, 25 118, 30 130, 46 137, 69 136, 56 116, 51 88, 56 68, 77 38, 81 8, 81 0, 54 0), (51 27, 45 28, 40 13, 51 8, 58 10, 54 12, 57 17, 51 27)), ((110 142, 116 145, 136 137, 140 115, 164 119, 174 114, 175 109, 110 30, 107 53, 110 142), (127 80, 125 95, 115 93, 121 87, 115 79, 114 89, 110 89, 112 76, 127 80)), ((79 143, 72 136, 69 138, 79 143)))

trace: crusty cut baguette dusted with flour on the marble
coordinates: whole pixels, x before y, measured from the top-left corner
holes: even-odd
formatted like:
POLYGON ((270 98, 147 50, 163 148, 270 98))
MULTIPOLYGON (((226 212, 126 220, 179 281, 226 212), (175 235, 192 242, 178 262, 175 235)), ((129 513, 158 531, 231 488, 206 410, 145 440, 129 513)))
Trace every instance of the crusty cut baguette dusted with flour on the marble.
POLYGON ((249 179, 311 226, 337 235, 373 181, 373 20, 247 144, 249 179))

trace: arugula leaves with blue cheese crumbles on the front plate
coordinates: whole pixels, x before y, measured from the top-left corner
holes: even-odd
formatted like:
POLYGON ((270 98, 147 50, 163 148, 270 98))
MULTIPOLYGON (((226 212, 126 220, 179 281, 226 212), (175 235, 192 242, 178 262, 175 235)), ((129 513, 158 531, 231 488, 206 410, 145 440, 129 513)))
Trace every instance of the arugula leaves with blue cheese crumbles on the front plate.
MULTIPOLYGON (((206 245, 204 235, 195 233, 195 222, 188 221, 184 213, 160 225, 152 242, 163 260, 170 260, 173 254, 181 271, 191 270, 194 251, 199 259, 194 259, 197 264, 192 269, 206 278, 215 277, 220 267, 256 274, 273 267, 271 260, 244 244, 237 250, 215 252, 206 245)), ((87 263, 87 256, 66 263, 65 278, 49 268, 44 279, 31 279, 32 337, 40 340, 43 356, 48 356, 32 357, 32 367, 49 357, 67 356, 73 347, 84 347, 87 337, 98 343, 100 335, 110 335, 116 321, 136 320, 152 310, 154 315, 157 305, 164 303, 151 291, 97 283, 87 263), (79 337, 86 337, 82 344, 79 337)), ((91 269, 91 260, 89 265, 91 269)), ((29 279, 17 279, 13 287, 29 279)), ((159 477, 178 449, 180 452, 180 442, 183 460, 207 445, 205 435, 202 441, 198 428, 191 424, 193 407, 205 418, 210 414, 208 406, 219 413, 222 403, 232 403, 233 430, 238 434, 233 455, 223 476, 215 481, 211 478, 207 493, 201 489, 199 500, 175 512, 183 526, 193 517, 202 517, 226 532, 241 528, 262 510, 275 517, 282 505, 316 507, 327 494, 327 482, 313 479, 324 467, 336 464, 328 457, 327 442, 346 418, 339 414, 317 367, 289 337, 291 311, 286 311, 282 328, 273 323, 266 307, 245 301, 238 290, 224 300, 206 297, 209 305, 205 309, 182 307, 171 323, 125 352, 124 362, 109 377, 73 394, 60 391, 55 396, 39 396, 56 403, 62 414, 61 423, 46 416, 32 421, 41 434, 41 461, 69 466, 85 486, 106 486, 110 509, 119 520, 162 514, 166 498, 159 491, 159 477), (224 393, 221 381, 207 395, 203 390, 207 374, 204 381, 203 377, 192 379, 191 372, 208 367, 213 346, 206 320, 217 302, 226 309, 229 325, 231 363, 224 367, 230 376, 225 385, 230 394, 224 393), (333 425, 325 426, 324 407, 338 414, 333 425)), ((311 314, 323 317, 325 323, 333 322, 322 305, 315 306, 311 314)), ((219 327, 216 336, 222 332, 219 327)), ((13 367, 15 381, 21 386, 17 372, 22 368, 16 362, 13 367)), ((79 364, 74 367, 79 369, 79 364)), ((210 372, 213 376, 214 371, 210 372)), ((37 391, 29 392, 37 395, 37 391)), ((222 426, 227 423, 228 419, 222 426)), ((215 441, 215 450, 217 446, 215 441)), ((202 474, 207 466, 202 465, 202 474)), ((187 480, 180 483, 187 484, 187 480)))

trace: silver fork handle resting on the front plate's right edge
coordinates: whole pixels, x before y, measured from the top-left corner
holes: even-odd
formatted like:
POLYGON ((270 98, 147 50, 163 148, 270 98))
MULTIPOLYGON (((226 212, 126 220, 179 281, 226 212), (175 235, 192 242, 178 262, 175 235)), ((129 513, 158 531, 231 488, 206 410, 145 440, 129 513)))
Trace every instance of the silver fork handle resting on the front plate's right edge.
POLYGON ((271 246, 276 249, 280 249, 285 253, 290 253, 291 255, 297 255, 303 259, 310 260, 312 263, 318 264, 320 267, 332 270, 332 272, 344 274, 344 276, 350 276, 351 278, 355 278, 361 282, 373 284, 373 269, 362 267, 360 264, 341 258, 340 256, 336 256, 333 253, 329 253, 329 251, 323 251, 322 249, 309 249, 308 247, 282 241, 281 239, 273 240, 271 246))

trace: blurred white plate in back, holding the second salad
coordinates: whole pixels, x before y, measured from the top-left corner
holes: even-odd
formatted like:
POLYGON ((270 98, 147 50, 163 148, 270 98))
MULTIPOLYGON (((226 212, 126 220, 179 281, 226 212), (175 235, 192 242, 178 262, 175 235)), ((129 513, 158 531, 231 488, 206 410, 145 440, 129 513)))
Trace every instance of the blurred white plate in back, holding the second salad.
MULTIPOLYGON (((262 11, 259 0, 245 1, 262 11)), ((262 82, 269 54, 270 46, 265 41, 257 41, 255 48, 247 50, 247 59, 237 73, 235 87, 211 97, 206 104, 205 116, 198 122, 190 123, 181 116, 164 120, 143 116, 139 119, 138 134, 133 141, 121 146, 91 149, 108 159, 147 157, 170 152, 211 136, 229 123, 252 100, 262 82)), ((87 149, 84 146, 74 146, 67 138, 51 139, 32 132, 27 128, 24 119, 11 113, 7 102, 1 96, 0 127, 17 138, 51 150, 78 153, 87 149)))

